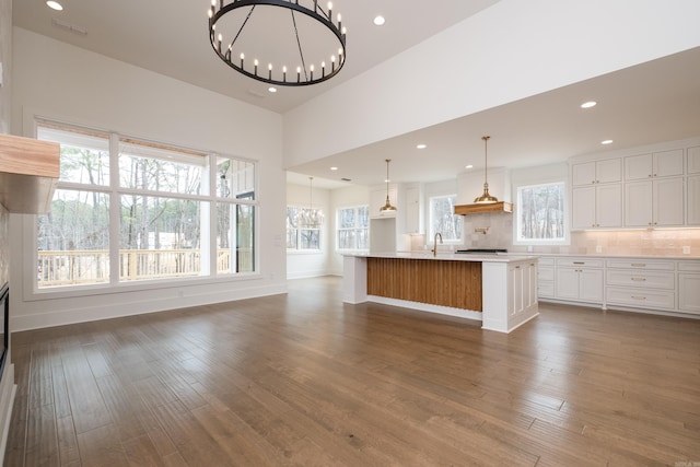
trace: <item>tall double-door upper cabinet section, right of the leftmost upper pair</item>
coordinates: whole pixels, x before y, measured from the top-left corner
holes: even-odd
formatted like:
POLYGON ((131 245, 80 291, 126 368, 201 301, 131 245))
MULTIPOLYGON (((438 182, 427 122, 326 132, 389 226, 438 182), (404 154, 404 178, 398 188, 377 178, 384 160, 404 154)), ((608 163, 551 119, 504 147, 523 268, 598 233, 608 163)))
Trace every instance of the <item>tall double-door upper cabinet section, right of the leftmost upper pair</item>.
POLYGON ((625 184, 625 225, 654 227, 682 225, 684 178, 655 178, 625 184))

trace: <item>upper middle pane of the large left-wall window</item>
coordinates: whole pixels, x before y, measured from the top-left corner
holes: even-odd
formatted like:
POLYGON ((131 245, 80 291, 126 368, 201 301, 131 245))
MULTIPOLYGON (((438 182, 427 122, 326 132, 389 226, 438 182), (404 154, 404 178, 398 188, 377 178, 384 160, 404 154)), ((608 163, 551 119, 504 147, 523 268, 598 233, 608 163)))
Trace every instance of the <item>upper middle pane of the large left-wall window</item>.
POLYGON ((209 159, 173 148, 119 140, 119 186, 149 191, 207 195, 202 174, 209 159))

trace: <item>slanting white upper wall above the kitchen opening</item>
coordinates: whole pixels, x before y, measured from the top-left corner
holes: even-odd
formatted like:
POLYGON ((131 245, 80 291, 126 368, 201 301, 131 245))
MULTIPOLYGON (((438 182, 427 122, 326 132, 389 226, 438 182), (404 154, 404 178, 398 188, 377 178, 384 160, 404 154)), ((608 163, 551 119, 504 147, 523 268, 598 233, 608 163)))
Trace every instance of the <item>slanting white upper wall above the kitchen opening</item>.
POLYGON ((502 0, 287 113, 284 165, 697 47, 698 17, 697 0, 502 0))

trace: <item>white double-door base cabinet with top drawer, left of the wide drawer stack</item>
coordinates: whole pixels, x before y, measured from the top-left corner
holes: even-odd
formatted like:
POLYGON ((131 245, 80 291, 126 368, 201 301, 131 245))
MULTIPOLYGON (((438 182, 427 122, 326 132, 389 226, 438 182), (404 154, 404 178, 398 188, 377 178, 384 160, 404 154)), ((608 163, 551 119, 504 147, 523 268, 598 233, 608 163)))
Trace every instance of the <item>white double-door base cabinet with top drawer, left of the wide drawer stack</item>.
POLYGON ((603 261, 587 258, 557 260, 557 293, 561 300, 603 302, 603 261))

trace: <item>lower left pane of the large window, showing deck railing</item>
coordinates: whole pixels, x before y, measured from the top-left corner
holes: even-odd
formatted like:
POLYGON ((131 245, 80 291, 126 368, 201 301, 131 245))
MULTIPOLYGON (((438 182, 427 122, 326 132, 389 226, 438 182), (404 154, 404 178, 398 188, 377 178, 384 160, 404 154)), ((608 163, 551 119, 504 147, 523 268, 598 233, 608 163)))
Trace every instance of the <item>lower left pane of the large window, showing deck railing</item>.
POLYGON ((37 218, 39 288, 109 281, 109 196, 58 189, 37 218))

